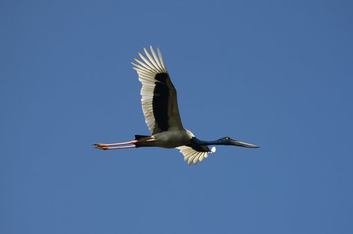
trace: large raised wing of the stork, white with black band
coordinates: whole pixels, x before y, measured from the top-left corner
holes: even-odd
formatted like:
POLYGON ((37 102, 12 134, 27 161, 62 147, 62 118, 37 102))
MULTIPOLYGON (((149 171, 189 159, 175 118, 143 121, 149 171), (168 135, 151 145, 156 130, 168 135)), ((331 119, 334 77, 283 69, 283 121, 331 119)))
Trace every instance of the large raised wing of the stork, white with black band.
POLYGON ((132 62, 138 73, 138 80, 142 83, 141 102, 147 127, 152 134, 183 129, 178 109, 177 90, 165 69, 159 48, 157 48, 158 56, 152 46, 150 48, 152 55, 144 48, 147 57, 138 53, 143 61, 134 58, 138 64, 132 62))

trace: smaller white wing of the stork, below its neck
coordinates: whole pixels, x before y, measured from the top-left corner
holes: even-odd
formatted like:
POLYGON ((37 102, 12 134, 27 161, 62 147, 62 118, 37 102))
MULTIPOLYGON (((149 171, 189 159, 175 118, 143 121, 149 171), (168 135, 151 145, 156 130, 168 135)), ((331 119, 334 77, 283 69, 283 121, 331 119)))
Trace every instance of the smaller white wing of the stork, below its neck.
POLYGON ((208 157, 208 153, 216 152, 216 148, 212 147, 210 150, 207 145, 190 145, 190 146, 180 146, 177 147, 181 154, 184 156, 184 160, 188 161, 188 165, 194 163, 196 165, 197 161, 203 161, 203 159, 208 157))

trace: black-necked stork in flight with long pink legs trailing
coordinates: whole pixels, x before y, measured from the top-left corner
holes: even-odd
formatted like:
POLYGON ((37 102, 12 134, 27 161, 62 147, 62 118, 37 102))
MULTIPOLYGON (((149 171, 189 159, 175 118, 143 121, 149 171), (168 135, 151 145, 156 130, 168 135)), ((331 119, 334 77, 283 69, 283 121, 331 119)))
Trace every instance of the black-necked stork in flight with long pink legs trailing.
POLYGON ((145 55, 138 53, 141 60, 134 58, 132 62, 137 71, 138 80, 142 83, 141 102, 143 115, 151 136, 135 135, 134 141, 113 144, 93 144, 101 150, 117 150, 137 147, 163 147, 177 148, 188 161, 188 165, 203 161, 208 153, 216 151, 208 145, 236 145, 241 147, 257 148, 241 141, 233 140, 226 136, 216 141, 199 140, 185 129, 179 115, 177 90, 170 80, 169 73, 165 68, 163 57, 159 48, 157 53, 150 46, 151 53, 144 48, 145 55), (152 54, 152 55, 151 55, 152 54))

